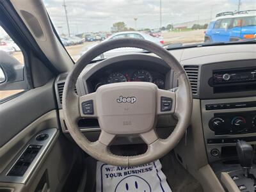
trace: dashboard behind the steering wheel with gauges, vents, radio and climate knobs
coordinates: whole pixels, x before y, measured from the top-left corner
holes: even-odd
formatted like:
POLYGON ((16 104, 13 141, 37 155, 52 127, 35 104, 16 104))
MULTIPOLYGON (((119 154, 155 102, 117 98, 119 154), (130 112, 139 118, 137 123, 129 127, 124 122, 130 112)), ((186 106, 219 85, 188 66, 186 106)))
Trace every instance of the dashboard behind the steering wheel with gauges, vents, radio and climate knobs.
MULTIPOLYGON (((191 83, 191 127, 200 132, 196 142, 201 143, 195 145, 206 151, 209 163, 235 156, 237 140, 256 144, 255 50, 255 45, 223 45, 170 51, 191 83)), ((67 73, 61 74, 55 84, 63 132, 68 132, 61 112, 66 77, 67 73)), ((88 65, 77 79, 76 91, 85 95, 104 84, 125 81, 147 81, 164 90, 179 86, 175 72, 163 60, 154 54, 132 54, 88 65)), ((100 131, 96 119, 79 121, 78 127, 89 137, 100 131)), ((157 131, 168 136, 170 127, 175 127, 175 118, 159 116, 157 131)))

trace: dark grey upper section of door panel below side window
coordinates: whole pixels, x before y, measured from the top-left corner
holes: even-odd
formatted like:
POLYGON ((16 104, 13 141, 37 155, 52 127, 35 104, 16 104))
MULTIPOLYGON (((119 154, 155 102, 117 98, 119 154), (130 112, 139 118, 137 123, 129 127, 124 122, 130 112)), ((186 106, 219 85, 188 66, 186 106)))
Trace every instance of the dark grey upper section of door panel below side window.
POLYGON ((0 147, 36 118, 56 109, 53 82, 52 79, 40 88, 0 104, 0 147))

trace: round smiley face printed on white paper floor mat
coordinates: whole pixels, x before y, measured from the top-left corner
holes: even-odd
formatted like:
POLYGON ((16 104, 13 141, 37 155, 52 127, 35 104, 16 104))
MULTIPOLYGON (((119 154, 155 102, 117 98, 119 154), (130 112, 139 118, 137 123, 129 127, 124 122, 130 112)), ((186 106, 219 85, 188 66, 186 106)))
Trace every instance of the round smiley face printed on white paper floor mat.
POLYGON ((137 176, 129 175, 118 182, 115 192, 151 192, 150 185, 147 180, 137 176))

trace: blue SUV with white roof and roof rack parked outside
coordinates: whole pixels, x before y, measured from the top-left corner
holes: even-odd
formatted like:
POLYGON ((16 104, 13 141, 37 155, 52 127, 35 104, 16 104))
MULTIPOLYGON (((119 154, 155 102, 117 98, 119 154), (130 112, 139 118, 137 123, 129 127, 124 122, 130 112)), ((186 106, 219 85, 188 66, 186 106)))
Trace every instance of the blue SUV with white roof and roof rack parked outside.
POLYGON ((256 38, 256 10, 218 13, 205 31, 205 43, 256 38))

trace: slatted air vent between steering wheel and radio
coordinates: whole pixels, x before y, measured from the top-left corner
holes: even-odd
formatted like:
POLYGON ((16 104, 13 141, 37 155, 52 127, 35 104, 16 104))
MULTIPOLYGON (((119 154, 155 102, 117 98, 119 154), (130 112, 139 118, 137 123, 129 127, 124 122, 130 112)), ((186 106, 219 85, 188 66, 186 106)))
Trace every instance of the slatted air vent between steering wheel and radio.
POLYGON ((193 95, 198 93, 198 69, 197 65, 184 65, 184 70, 188 75, 193 95))

